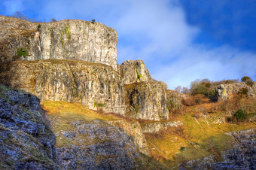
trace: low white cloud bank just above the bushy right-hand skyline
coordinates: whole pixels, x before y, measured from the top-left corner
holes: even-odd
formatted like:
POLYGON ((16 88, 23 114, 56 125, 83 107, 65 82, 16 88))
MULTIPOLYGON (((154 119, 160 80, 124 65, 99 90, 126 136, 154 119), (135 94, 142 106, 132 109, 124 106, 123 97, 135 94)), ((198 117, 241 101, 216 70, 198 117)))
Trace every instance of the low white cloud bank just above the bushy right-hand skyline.
POLYGON ((240 79, 248 75, 255 77, 256 54, 242 52, 233 47, 207 49, 202 46, 186 47, 178 60, 170 65, 159 65, 153 73, 157 80, 163 80, 170 89, 178 85, 189 87, 196 79, 209 80, 240 79))

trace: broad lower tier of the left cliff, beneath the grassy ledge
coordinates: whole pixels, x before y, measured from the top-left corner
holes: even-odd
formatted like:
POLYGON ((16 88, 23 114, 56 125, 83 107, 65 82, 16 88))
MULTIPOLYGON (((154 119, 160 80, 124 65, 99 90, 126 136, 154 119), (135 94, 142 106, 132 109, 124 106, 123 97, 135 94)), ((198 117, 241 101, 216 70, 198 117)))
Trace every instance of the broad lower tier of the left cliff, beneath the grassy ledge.
POLYGON ((80 102, 122 115, 126 108, 123 82, 108 65, 59 59, 19 61, 8 65, 0 80, 41 100, 80 102))

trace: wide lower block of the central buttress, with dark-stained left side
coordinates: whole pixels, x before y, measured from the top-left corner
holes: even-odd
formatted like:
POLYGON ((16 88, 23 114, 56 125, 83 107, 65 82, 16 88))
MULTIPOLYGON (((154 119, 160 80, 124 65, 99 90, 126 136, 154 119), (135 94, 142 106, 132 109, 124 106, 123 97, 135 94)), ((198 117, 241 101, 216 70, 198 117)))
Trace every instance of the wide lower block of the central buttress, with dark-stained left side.
POLYGON ((126 116, 142 120, 169 120, 167 86, 151 81, 126 85, 126 116))

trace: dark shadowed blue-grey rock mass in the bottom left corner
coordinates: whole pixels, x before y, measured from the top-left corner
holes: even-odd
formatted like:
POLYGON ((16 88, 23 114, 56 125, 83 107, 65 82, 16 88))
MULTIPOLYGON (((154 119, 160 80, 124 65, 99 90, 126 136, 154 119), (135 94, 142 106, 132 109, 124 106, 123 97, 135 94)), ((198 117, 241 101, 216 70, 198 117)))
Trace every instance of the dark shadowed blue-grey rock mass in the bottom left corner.
POLYGON ((56 138, 35 96, 0 86, 0 168, 58 169, 56 138))

